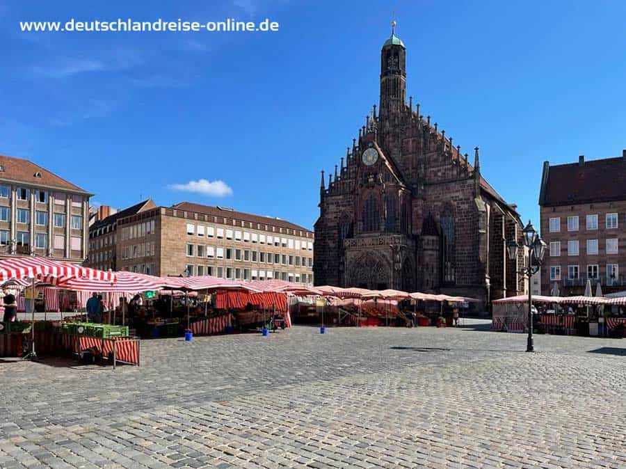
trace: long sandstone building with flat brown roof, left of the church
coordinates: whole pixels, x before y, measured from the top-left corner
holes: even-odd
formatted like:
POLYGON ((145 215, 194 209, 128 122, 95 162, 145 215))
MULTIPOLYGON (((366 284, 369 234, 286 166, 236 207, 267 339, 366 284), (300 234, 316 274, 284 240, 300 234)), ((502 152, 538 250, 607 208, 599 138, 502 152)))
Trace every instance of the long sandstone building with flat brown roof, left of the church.
POLYGON ((120 270, 313 283, 313 233, 280 218, 182 202, 117 225, 120 270))

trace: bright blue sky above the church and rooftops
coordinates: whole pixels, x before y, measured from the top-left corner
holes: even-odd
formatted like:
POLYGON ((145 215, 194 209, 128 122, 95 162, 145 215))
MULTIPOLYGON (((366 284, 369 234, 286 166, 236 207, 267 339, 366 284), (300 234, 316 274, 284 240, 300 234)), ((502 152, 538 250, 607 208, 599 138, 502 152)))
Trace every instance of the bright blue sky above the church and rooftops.
POLYGON ((312 227, 319 170, 339 163, 378 104, 393 10, 407 94, 462 149, 479 145, 483 175, 524 218, 536 221, 544 160, 626 148, 618 0, 0 0, 0 154, 114 207, 193 200, 312 227), (19 31, 19 21, 72 17, 267 17, 280 29, 19 31))

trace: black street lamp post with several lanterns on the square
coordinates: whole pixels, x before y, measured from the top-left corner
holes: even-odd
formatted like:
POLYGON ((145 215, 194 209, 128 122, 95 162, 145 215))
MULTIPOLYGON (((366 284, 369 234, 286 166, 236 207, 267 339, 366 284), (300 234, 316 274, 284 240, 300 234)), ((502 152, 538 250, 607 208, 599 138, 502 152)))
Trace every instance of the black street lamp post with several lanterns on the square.
POLYGON ((543 256, 545 255, 545 241, 541 239, 538 232, 533 227, 531 221, 528 221, 528 225, 522 230, 522 243, 517 244, 515 239, 508 241, 506 244, 506 251, 508 251, 508 258, 510 260, 517 260, 517 249, 527 248, 528 258, 525 262, 525 266, 522 270, 518 271, 523 276, 528 278, 528 340, 526 344, 526 351, 535 351, 533 347, 533 298, 532 298, 532 276, 537 273, 543 262, 543 256))

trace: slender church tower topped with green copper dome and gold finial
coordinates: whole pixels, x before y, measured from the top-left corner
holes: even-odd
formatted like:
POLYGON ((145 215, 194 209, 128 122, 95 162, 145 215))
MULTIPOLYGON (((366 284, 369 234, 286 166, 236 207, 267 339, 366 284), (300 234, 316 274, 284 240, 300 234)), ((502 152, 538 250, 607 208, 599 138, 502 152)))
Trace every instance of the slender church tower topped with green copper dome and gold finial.
POLYGON ((392 34, 380 51, 380 111, 381 119, 399 113, 406 107, 406 47, 396 36, 396 22, 392 34))

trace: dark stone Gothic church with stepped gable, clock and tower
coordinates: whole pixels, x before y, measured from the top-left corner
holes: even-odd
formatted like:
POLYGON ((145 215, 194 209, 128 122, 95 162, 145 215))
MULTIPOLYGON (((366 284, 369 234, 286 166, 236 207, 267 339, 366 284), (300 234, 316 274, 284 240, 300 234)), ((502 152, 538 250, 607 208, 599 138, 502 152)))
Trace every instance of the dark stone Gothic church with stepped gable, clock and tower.
POLYGON ((380 104, 328 182, 315 223, 316 285, 394 288, 479 298, 521 294, 516 206, 481 176, 419 104, 406 100, 406 47, 394 34, 380 54, 380 104))

